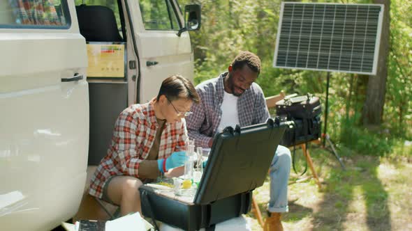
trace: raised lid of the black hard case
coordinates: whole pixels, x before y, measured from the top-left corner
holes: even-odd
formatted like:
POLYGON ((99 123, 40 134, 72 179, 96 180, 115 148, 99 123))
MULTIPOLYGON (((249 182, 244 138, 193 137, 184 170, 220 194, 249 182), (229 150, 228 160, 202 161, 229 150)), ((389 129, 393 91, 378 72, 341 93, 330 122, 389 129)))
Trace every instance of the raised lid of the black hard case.
POLYGON ((262 186, 286 129, 286 124, 279 121, 277 118, 248 127, 226 127, 217 134, 195 204, 209 204, 262 186))

